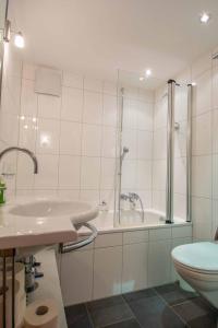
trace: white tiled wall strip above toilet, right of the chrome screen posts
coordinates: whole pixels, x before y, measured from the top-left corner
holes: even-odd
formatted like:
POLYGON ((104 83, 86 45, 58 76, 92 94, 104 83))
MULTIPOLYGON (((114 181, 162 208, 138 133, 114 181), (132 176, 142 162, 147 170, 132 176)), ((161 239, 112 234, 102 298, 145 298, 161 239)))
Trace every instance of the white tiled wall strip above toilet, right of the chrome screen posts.
POLYGON ((194 239, 214 237, 216 221, 216 85, 217 61, 211 52, 192 66, 196 83, 193 105, 193 234, 194 239))

